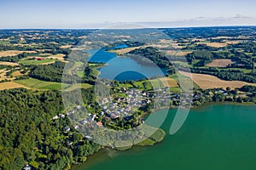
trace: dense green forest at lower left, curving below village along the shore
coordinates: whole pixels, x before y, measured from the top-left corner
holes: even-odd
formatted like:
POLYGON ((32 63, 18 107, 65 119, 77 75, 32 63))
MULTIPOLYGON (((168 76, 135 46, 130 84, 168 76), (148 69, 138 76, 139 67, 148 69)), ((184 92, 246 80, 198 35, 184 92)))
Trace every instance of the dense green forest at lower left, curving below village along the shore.
MULTIPOLYGON (((102 148, 100 144, 79 133, 81 131, 76 130, 74 124, 65 116, 60 91, 16 88, 0 91, 0 95, 0 105, 3 105, 0 108, 0 169, 21 169, 26 164, 42 170, 69 169, 73 164, 86 161, 87 156, 102 148), (54 118, 55 116, 58 118, 54 118)), ((68 108, 77 108, 75 105, 78 105, 79 90, 64 95, 71 101, 68 108)), ((106 127, 117 130, 126 127, 130 129, 137 123, 137 120, 132 118, 117 118, 112 123, 104 115, 100 116, 102 107, 96 103, 92 88, 82 90, 82 98, 87 110, 96 114, 95 121, 102 121, 106 127)), ((77 114, 70 116, 73 121, 79 121, 80 116, 84 117, 83 110, 75 111, 78 111, 77 114)), ((142 111, 140 113, 142 114, 142 111)), ((104 129, 95 131, 92 125, 93 122, 87 125, 88 128, 85 126, 86 131, 82 132, 98 138, 98 134, 104 129)), ((116 145, 116 150, 129 149, 142 137, 148 138, 147 142, 143 141, 138 145, 152 145, 160 142, 165 136, 160 129, 155 129, 156 132, 149 136, 154 129, 147 126, 143 130, 137 129, 137 133, 127 131, 120 136, 117 131, 104 131, 104 137, 100 141, 105 141, 101 144, 116 145), (113 136, 118 141, 113 140, 113 136), (119 142, 127 138, 131 140, 131 145, 119 147, 119 142)))

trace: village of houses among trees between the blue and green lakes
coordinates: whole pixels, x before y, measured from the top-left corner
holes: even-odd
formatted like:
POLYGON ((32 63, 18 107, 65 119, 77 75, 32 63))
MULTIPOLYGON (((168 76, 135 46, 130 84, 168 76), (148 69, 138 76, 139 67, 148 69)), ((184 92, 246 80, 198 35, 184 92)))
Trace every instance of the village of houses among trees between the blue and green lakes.
MULTIPOLYGON (((221 99, 230 100, 234 97, 235 90, 216 88, 207 91, 194 91, 193 94, 188 93, 172 93, 170 88, 156 88, 154 91, 143 91, 137 88, 120 88, 121 96, 112 94, 109 97, 102 97, 97 100, 102 107, 101 112, 86 112, 86 106, 77 105, 73 111, 68 111, 66 114, 59 114, 52 117, 55 121, 66 116, 76 115, 79 112, 84 112, 84 117, 80 118, 78 123, 73 125, 74 129, 79 129, 85 125, 96 125, 103 127, 104 122, 108 121, 112 124, 117 119, 130 121, 134 118, 137 111, 143 111, 146 105, 151 105, 151 110, 161 108, 190 108, 201 105, 205 102, 221 101, 221 99), (219 98, 219 99, 218 99, 219 98), (99 121, 100 120, 100 121, 99 121)), ((245 94, 237 94, 236 98, 245 94)), ((231 101, 231 100, 230 100, 231 101)), ((145 111, 144 111, 145 112, 145 111)), ((65 127, 64 131, 68 133, 71 127, 65 127)), ((90 139, 91 137, 86 137, 90 139)))

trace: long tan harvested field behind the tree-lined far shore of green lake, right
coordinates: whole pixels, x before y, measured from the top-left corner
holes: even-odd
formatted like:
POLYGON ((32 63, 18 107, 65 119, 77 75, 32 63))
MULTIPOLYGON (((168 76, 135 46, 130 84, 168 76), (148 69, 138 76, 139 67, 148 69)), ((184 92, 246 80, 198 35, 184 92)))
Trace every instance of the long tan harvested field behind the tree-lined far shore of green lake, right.
POLYGON ((221 80, 218 77, 213 77, 206 74, 195 74, 195 73, 188 73, 184 71, 179 71, 185 77, 189 77, 195 82, 200 88, 207 89, 207 88, 227 88, 230 87, 234 88, 241 88, 244 85, 250 84, 247 82, 241 81, 225 81, 221 80))

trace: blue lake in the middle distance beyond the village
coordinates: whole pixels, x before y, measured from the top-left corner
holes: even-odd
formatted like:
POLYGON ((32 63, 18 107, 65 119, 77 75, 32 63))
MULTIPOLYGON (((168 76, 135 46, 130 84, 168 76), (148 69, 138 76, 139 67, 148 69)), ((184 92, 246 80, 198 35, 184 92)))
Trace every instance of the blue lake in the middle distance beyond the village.
MULTIPOLYGON (((115 48, 125 48, 124 46, 117 46, 115 48)), ((164 77, 167 73, 165 68, 157 66, 140 65, 136 60, 120 57, 116 54, 109 53, 106 48, 100 50, 90 50, 92 55, 90 62, 106 63, 107 66, 99 69, 101 71, 100 78, 107 78, 109 80, 118 80, 123 82, 125 80, 137 81, 143 78, 160 76, 164 77)))

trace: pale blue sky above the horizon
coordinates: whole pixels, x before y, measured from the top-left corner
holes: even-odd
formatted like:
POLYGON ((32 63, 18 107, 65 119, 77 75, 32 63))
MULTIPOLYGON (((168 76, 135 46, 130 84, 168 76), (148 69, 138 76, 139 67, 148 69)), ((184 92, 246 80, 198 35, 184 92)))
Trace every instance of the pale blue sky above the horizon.
POLYGON ((255 0, 0 0, 0 28, 256 26, 255 0))

